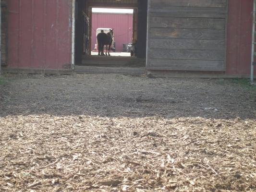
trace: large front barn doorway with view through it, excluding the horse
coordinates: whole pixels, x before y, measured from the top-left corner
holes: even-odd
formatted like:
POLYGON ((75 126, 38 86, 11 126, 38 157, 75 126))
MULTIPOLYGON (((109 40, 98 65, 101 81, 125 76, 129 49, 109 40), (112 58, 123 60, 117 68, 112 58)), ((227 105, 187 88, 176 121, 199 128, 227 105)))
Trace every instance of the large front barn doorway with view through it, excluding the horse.
POLYGON ((76 0, 75 17, 75 65, 146 66, 147 0, 76 0), (111 56, 98 56, 97 33, 110 28, 111 56))

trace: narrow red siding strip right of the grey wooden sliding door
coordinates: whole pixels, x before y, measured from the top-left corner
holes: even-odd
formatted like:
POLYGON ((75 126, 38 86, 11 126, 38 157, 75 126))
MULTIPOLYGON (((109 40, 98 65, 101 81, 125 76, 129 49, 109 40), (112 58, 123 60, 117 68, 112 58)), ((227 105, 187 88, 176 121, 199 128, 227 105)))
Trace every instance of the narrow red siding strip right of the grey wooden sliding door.
POLYGON ((250 73, 252 12, 253 0, 229 0, 227 74, 250 73))

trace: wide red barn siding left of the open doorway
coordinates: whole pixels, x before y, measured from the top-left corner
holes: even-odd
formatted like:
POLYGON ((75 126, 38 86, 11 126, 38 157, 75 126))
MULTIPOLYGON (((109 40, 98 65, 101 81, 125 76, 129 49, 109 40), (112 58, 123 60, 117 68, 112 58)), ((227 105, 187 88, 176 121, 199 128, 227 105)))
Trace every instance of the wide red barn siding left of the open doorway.
POLYGON ((71 0, 9 0, 8 67, 62 69, 71 62, 71 0))

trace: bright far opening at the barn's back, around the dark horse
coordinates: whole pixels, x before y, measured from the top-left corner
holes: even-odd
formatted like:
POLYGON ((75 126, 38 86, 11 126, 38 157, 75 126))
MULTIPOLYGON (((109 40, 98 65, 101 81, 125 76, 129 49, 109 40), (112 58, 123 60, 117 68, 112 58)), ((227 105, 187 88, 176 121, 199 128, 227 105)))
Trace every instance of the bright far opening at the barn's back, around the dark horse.
MULTIPOLYGON (((97 36, 103 30, 113 29, 111 56, 129 57, 136 55, 136 42, 133 38, 134 9, 92 8, 91 55, 98 55, 97 36)), ((104 48, 106 49, 106 47, 104 48)), ((105 50, 104 50, 105 52, 105 50)))

